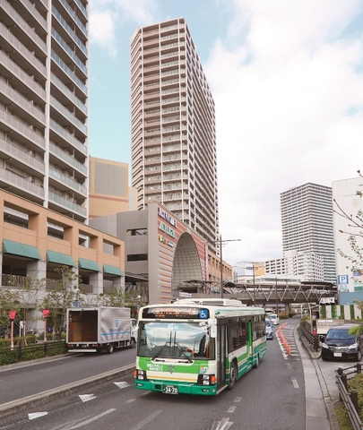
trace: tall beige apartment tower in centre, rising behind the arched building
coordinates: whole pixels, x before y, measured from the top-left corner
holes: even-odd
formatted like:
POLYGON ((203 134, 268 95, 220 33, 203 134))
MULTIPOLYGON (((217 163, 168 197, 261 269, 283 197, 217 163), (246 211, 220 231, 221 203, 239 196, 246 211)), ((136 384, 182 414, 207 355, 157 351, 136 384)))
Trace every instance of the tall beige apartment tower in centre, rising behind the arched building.
POLYGON ((215 248, 219 232, 212 93, 183 18, 131 40, 132 185, 215 248))

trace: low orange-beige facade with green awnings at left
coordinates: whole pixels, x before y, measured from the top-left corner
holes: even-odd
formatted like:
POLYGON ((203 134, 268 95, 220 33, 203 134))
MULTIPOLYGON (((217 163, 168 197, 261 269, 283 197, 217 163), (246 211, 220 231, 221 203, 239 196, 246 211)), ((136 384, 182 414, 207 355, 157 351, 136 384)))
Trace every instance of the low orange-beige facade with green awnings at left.
POLYGON ((28 278, 53 289, 60 279, 55 269, 63 266, 81 276, 93 297, 124 287, 122 240, 1 190, 0 206, 3 287, 22 287, 28 278))

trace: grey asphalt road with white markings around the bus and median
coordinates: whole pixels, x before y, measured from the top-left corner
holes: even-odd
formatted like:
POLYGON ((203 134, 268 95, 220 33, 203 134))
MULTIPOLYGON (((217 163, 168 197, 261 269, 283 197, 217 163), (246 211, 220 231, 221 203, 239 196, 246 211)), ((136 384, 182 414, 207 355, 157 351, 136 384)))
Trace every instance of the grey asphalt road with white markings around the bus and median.
MULTIPOLYGON (((73 428, 125 430, 305 430, 305 381, 302 361, 294 345, 296 323, 289 320, 284 328, 290 339, 291 355, 287 356, 276 336, 268 340, 267 354, 257 369, 245 374, 233 391, 222 391, 219 396, 165 395, 134 389, 131 374, 81 389, 66 397, 30 407, 16 415, 3 417, 0 429, 73 428)), ((16 372, 0 373, 1 384, 11 386, 16 378, 24 390, 37 391, 34 385, 44 382, 47 387, 64 384, 81 376, 97 374, 112 366, 124 366, 134 360, 135 350, 120 350, 105 356, 78 356, 46 364, 28 366, 16 372), (74 369, 71 370, 71 367, 74 369), (53 370, 52 370, 53 369, 53 370), (20 372, 20 374, 18 374, 20 372), (79 373, 79 374, 78 374, 79 373), (33 385, 32 387, 29 384, 33 385)), ((88 376, 86 376, 88 377, 88 376)), ((19 387, 13 390, 16 395, 19 387)), ((1 391, 2 399, 3 391, 1 391)))

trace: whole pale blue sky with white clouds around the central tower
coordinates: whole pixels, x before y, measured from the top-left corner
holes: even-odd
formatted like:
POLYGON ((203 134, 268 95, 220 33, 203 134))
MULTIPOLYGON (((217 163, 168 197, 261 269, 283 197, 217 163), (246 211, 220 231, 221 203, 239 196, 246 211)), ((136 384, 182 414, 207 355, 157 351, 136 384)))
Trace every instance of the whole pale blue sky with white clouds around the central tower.
POLYGON ((216 105, 223 260, 281 258, 281 193, 363 171, 363 1, 91 0, 92 157, 131 169, 130 39, 179 17, 216 105))

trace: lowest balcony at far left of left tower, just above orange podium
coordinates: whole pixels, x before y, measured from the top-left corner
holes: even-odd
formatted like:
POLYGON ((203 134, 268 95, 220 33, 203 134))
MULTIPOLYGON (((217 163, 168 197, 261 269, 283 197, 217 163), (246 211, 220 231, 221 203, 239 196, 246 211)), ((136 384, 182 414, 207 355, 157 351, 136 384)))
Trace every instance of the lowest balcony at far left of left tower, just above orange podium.
POLYGON ((28 178, 4 168, 0 168, 0 188, 40 204, 45 199, 45 191, 42 186, 35 185, 28 178))

